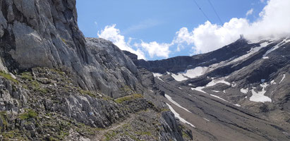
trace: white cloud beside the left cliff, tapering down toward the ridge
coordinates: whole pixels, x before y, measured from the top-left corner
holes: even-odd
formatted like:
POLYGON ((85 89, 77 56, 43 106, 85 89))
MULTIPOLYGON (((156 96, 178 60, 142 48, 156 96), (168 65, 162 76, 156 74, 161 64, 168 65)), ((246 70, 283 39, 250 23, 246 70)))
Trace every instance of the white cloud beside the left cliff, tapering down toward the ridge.
POLYGON ((109 41, 113 42, 121 50, 130 51, 131 53, 138 55, 138 59, 146 59, 143 51, 140 49, 132 49, 130 45, 131 38, 128 40, 128 42, 126 42, 125 37, 120 34, 120 30, 116 29, 116 25, 108 25, 104 27, 104 30, 98 32, 97 35, 100 38, 108 39, 109 41))

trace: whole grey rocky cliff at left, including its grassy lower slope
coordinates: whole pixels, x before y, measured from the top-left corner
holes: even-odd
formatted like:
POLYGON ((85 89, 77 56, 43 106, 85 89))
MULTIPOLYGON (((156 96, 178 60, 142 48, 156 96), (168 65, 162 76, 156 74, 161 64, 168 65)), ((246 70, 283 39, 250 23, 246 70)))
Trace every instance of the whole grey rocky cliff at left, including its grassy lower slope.
POLYGON ((75 0, 0 1, 0 56, 0 140, 192 140, 75 0))

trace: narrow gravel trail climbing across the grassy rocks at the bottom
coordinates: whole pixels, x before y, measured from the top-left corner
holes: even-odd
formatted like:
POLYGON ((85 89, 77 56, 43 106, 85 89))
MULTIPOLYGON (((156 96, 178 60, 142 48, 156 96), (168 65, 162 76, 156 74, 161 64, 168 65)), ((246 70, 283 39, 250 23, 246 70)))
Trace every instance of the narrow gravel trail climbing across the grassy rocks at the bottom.
POLYGON ((131 121, 133 121, 133 118, 135 118, 135 114, 131 114, 129 118, 127 118, 125 121, 121 122, 121 123, 114 123, 111 126, 109 126, 108 128, 104 129, 104 130, 100 130, 97 132, 97 135, 95 137, 93 137, 91 140, 92 141, 102 141, 104 140, 104 134, 109 132, 110 130, 116 130, 117 128, 122 127, 123 125, 125 125, 126 123, 130 123, 131 121))

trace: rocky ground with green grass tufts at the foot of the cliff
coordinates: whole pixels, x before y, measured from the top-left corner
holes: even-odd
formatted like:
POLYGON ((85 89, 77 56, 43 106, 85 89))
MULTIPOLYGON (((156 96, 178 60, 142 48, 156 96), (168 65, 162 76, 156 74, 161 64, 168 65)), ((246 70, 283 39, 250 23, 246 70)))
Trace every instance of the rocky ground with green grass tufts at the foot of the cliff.
POLYGON ((112 99, 80 89, 70 77, 64 69, 2 72, 1 140, 191 140, 168 109, 143 94, 124 87, 132 94, 112 99))

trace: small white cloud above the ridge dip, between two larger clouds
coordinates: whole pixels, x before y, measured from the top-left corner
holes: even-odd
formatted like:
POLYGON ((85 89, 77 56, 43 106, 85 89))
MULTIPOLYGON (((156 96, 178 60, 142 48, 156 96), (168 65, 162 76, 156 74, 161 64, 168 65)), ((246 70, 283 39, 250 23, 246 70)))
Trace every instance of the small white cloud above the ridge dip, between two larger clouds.
POLYGON ((159 56, 159 57, 164 57, 164 58, 168 58, 169 54, 171 51, 169 51, 169 47, 172 44, 166 44, 166 43, 162 43, 159 44, 157 42, 141 42, 140 44, 134 44, 135 47, 142 47, 143 49, 145 49, 145 51, 148 52, 150 58, 153 58, 154 56, 159 56))

